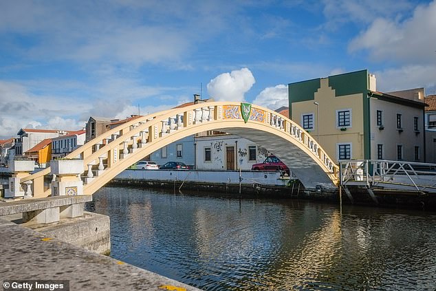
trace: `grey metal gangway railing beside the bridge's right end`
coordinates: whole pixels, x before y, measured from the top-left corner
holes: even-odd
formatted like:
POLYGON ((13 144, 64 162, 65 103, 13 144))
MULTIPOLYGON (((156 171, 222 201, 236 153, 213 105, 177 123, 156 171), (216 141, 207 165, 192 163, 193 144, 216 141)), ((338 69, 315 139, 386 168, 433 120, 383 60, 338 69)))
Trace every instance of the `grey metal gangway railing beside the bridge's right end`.
POLYGON ((347 160, 339 163, 340 184, 412 188, 436 192, 436 164, 391 160, 347 160))

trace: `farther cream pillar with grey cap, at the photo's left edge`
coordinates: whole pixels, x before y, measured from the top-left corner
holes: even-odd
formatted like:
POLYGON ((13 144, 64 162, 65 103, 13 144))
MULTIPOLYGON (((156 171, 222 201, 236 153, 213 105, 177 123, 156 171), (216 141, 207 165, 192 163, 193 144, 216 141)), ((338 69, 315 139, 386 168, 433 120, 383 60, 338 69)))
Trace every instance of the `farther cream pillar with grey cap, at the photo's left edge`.
MULTIPOLYGON (((21 185, 21 178, 30 175, 34 171, 35 163, 33 160, 14 160, 10 163, 10 170, 13 172, 12 177, 9 178, 9 189, 5 191, 5 198, 18 198, 25 197, 28 187, 21 185)), ((30 190, 30 189, 29 189, 30 190)))

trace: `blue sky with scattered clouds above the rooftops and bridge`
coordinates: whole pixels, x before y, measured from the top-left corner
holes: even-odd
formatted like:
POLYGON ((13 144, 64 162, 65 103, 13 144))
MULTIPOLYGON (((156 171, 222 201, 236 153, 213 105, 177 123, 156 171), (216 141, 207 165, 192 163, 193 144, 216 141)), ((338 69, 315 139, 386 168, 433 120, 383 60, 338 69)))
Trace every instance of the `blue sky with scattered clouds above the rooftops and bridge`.
POLYGON ((360 69, 436 94, 436 0, 0 1, 0 138, 360 69))

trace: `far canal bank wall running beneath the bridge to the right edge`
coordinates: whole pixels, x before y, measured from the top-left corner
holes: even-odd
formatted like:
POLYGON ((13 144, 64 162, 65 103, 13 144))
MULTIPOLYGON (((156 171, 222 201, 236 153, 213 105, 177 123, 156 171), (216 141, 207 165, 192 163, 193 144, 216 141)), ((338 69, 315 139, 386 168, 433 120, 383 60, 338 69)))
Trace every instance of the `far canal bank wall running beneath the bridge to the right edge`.
POLYGON ((296 198, 334 204, 436 210, 436 195, 433 193, 375 189, 371 197, 366 187, 349 186, 349 193, 342 188, 340 197, 338 188, 307 189, 298 180, 283 177, 279 172, 125 170, 109 185, 166 188, 175 193, 217 192, 243 197, 296 198))

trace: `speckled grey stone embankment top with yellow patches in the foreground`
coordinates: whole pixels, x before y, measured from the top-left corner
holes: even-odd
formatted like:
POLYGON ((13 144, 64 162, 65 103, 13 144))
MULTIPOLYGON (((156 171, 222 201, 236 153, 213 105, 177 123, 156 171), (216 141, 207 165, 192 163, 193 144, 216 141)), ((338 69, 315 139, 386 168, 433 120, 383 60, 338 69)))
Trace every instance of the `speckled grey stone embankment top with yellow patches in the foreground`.
POLYGON ((69 290, 199 290, 4 219, 0 237, 3 281, 68 280, 69 290))

